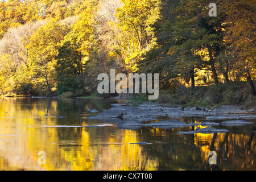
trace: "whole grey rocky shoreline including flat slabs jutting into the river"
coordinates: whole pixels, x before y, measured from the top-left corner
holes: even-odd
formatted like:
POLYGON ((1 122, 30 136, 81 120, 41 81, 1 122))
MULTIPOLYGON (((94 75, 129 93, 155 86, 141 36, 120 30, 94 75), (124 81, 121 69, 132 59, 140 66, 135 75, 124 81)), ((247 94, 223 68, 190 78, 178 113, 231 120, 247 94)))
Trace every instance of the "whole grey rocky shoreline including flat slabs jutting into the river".
POLYGON ((256 119, 254 109, 245 110, 238 106, 220 106, 214 110, 208 110, 204 107, 167 107, 158 104, 142 104, 139 106, 130 106, 124 104, 113 104, 113 107, 102 111, 95 117, 88 119, 100 119, 101 121, 118 122, 118 127, 121 129, 139 129, 142 126, 158 127, 162 129, 175 129, 177 127, 199 126, 198 123, 185 123, 177 119, 167 119, 144 124, 142 121, 159 120, 156 117, 191 117, 203 116, 206 120, 213 119, 233 119, 223 121, 221 123, 205 121, 201 122, 201 126, 210 126, 206 129, 198 129, 194 131, 186 131, 178 134, 193 134, 193 133, 226 133, 228 130, 215 129, 211 126, 243 126, 250 125, 254 122, 247 122, 244 119, 256 119))

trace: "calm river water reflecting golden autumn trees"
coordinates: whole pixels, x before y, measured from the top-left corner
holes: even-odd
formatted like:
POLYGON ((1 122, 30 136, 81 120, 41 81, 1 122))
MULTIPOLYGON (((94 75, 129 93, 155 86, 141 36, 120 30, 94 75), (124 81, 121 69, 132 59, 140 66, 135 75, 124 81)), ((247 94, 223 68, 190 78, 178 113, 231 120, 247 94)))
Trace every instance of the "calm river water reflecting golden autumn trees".
MULTIPOLYGON (((186 135, 177 133, 195 127, 125 130, 111 119, 87 119, 110 104, 124 102, 1 97, 0 170, 255 171, 255 119, 246 120, 254 122, 251 125, 214 126, 228 133, 186 135), (209 164, 210 151, 216 152, 216 164, 209 164)), ((178 119, 206 121, 205 117, 178 119)), ((149 122, 153 121, 143 121, 149 122)))

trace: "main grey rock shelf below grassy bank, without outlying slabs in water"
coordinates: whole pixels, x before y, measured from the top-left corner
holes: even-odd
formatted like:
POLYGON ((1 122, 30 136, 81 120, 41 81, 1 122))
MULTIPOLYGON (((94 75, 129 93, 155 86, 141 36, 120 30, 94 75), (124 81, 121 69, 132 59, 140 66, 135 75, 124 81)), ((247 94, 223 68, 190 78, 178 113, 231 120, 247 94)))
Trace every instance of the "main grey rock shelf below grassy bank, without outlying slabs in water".
POLYGON ((167 107, 158 104, 142 104, 139 106, 118 105, 96 115, 96 118, 153 118, 168 116, 170 118, 183 116, 205 116, 206 119, 256 119, 256 110, 245 110, 239 106, 220 106, 214 110, 205 107, 167 107))

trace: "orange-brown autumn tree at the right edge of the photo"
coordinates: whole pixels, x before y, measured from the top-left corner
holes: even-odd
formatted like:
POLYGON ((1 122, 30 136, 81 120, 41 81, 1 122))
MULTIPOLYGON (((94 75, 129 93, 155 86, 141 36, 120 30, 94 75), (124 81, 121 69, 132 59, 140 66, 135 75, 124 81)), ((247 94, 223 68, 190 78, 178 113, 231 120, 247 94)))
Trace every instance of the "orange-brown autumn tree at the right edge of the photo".
POLYGON ((228 14, 229 24, 226 42, 232 48, 232 56, 236 60, 235 67, 245 73, 250 83, 251 94, 256 96, 251 73, 255 74, 255 2, 250 0, 229 1, 221 4, 228 14))

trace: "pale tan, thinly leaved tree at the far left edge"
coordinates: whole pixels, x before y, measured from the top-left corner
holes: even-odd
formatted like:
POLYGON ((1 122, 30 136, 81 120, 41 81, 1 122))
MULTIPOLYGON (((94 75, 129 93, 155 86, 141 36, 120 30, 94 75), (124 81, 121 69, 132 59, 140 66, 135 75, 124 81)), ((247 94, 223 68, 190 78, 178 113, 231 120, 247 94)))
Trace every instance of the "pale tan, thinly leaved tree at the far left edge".
POLYGON ((28 60, 27 45, 30 43, 30 38, 34 32, 44 24, 46 24, 46 22, 40 20, 15 28, 9 28, 5 36, 0 40, 1 76, 3 80, 5 80, 5 84, 1 84, 3 90, 5 90, 5 88, 13 89, 14 87, 18 90, 20 86, 15 84, 19 85, 19 82, 25 79, 28 79, 27 82, 30 82, 29 78, 32 74, 28 74, 31 64, 28 60), (8 72, 6 72, 7 70, 8 72), (15 80, 15 78, 19 80, 15 80))

